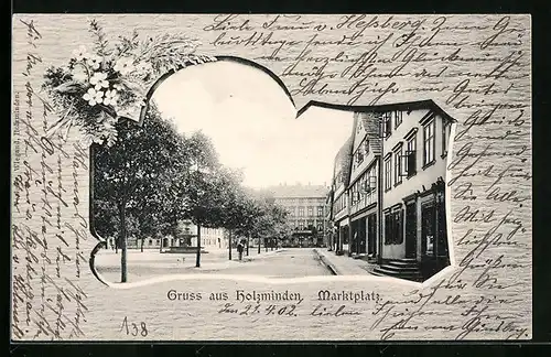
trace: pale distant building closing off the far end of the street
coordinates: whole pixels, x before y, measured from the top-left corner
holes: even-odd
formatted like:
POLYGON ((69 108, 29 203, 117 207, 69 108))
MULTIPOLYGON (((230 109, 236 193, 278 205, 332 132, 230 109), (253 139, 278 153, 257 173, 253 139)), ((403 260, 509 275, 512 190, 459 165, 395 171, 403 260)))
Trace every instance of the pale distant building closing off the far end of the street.
POLYGON ((283 246, 324 246, 326 228, 326 206, 328 187, 324 185, 287 185, 268 187, 267 191, 289 212, 288 224, 292 229, 283 246))

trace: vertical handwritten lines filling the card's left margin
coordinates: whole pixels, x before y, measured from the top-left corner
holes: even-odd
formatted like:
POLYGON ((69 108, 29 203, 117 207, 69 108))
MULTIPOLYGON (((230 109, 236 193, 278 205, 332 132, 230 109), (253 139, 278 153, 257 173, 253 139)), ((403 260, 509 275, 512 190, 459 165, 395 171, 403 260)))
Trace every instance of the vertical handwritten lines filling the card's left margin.
MULTIPOLYGON (((84 336, 87 293, 79 264, 87 262, 78 245, 87 239, 79 214, 78 175, 86 176, 86 151, 68 148, 46 130, 54 113, 30 78, 42 69, 42 35, 33 21, 26 29, 29 52, 22 90, 15 89, 12 215, 12 335, 18 339, 68 339, 84 336), (74 182, 65 178, 73 170, 74 182), (71 221, 80 218, 77 227, 71 221)), ((17 86, 15 88, 21 88, 17 86)))

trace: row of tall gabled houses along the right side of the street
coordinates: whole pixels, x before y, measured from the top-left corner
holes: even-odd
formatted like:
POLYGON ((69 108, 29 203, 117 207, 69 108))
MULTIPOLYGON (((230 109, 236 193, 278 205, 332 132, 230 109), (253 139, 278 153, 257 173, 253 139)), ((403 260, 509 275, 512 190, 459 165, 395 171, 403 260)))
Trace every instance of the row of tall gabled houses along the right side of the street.
POLYGON ((417 267, 423 279, 450 264, 445 176, 454 121, 432 100, 354 113, 335 159, 337 251, 377 261, 381 273, 417 267))

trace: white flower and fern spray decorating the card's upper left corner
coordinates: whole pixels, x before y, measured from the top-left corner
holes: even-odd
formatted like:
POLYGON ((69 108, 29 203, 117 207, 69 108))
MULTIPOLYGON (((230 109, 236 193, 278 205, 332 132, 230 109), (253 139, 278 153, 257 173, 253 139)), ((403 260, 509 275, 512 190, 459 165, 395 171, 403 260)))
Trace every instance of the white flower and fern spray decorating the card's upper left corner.
POLYGON ((73 51, 68 65, 50 67, 43 88, 61 117, 47 131, 67 138, 77 127, 85 142, 107 143, 117 140, 115 123, 119 118, 139 118, 148 89, 159 77, 190 65, 216 61, 195 53, 197 40, 181 33, 140 39, 119 36, 115 44, 102 28, 89 23, 94 48, 80 45, 73 51), (61 133, 60 133, 61 132, 61 133))

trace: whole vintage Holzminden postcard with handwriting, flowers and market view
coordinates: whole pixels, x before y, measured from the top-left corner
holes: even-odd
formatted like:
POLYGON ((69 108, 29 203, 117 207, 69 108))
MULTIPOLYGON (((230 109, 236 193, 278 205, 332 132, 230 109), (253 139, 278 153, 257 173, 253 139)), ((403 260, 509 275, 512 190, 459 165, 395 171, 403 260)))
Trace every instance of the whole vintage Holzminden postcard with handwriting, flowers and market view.
POLYGON ((529 15, 12 42, 12 342, 532 338, 529 15))

